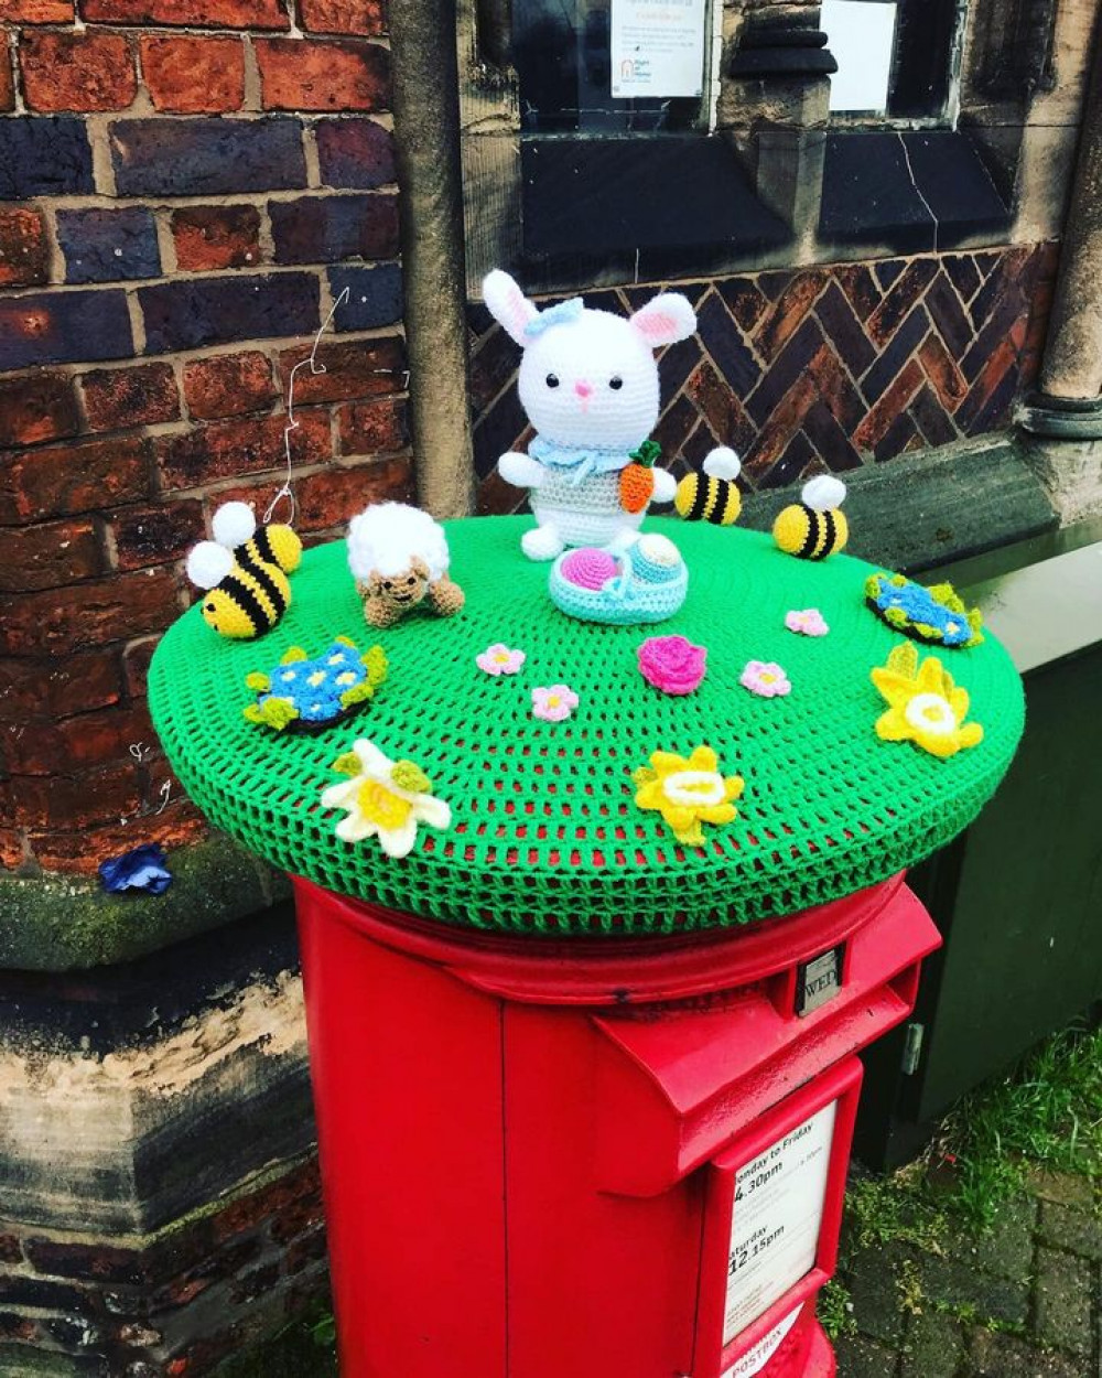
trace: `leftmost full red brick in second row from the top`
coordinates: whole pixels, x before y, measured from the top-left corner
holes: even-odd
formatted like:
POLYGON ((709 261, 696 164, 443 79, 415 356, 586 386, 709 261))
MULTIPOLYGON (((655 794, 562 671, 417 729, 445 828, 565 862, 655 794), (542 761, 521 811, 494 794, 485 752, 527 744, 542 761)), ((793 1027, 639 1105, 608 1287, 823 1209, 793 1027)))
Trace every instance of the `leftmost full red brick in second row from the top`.
POLYGON ((32 110, 125 110, 138 94, 134 56, 118 33, 28 33, 19 45, 32 110))

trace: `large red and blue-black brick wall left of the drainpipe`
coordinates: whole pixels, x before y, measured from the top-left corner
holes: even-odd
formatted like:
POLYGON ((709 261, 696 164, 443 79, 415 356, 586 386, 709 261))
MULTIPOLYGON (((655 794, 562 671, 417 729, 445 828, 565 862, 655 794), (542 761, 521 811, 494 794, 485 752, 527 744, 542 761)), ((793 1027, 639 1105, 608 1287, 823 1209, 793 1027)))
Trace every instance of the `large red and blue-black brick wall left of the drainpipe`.
POLYGON ((90 871, 201 828, 145 670, 212 510, 278 486, 344 287, 299 375, 298 525, 412 493, 390 52, 382 0, 0 21, 0 864, 90 871))

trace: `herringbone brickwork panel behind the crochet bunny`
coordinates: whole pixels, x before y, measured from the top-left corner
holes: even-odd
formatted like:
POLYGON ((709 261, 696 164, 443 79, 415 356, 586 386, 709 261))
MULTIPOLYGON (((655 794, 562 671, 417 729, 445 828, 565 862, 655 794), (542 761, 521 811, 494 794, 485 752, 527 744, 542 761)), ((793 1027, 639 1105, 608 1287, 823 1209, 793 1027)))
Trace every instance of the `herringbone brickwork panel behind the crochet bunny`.
MULTIPOLYGON (((733 445, 747 488, 778 488, 999 430, 1036 373, 1055 259, 1036 244, 669 284, 698 328, 661 358, 663 463, 733 445)), ((630 311, 657 289, 585 302, 630 311)), ((495 466, 532 434, 518 351, 484 307, 470 325, 479 510, 512 511, 523 493, 495 466)))

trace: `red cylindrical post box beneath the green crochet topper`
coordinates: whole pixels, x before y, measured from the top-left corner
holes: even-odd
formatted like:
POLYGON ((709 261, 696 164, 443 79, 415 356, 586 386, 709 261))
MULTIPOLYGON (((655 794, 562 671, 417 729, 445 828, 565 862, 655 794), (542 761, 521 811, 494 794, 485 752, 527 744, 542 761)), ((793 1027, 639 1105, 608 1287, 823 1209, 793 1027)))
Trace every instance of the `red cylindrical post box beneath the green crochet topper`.
POLYGON ((718 934, 449 929, 296 881, 343 1378, 820 1378, 902 876, 718 934))

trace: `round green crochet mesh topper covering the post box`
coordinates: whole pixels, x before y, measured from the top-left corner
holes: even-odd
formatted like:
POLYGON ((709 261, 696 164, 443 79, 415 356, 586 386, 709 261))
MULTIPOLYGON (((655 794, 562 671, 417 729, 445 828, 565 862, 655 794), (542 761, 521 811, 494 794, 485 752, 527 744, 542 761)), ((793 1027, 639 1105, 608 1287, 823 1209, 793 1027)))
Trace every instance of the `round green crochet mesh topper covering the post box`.
POLYGON ((415 615, 372 631, 387 682, 351 722, 287 737, 245 722, 245 675, 300 645, 344 634, 365 642, 343 542, 306 554, 293 604, 260 642, 215 635, 193 608, 150 667, 164 750, 212 823, 287 871, 395 909, 485 929, 668 933, 789 914, 849 894, 927 856, 992 794, 1022 730, 1022 689, 988 637, 945 653, 971 695, 979 745, 939 761, 876 736, 883 703, 869 679, 902 638, 865 606, 872 566, 846 555, 793 559, 769 536, 674 520, 647 521, 676 542, 689 597, 664 624, 708 648, 696 693, 669 697, 642 678, 645 627, 579 623, 547 597, 547 565, 518 550, 530 520, 452 522, 452 575, 467 593, 456 617, 415 615), (785 630, 818 608, 828 637, 785 630), (475 656, 495 642, 526 652, 492 677, 475 656), (762 699, 738 683, 748 660, 792 681, 762 699), (566 722, 532 717, 530 690, 569 685, 566 722), (413 852, 350 845, 321 808, 331 763, 357 737, 415 761, 452 808, 448 831, 424 828, 413 852), (707 744, 725 774, 745 777, 738 817, 705 825, 705 845, 676 842, 660 813, 635 806, 632 770, 656 750, 707 744))

